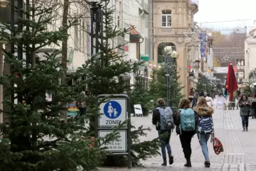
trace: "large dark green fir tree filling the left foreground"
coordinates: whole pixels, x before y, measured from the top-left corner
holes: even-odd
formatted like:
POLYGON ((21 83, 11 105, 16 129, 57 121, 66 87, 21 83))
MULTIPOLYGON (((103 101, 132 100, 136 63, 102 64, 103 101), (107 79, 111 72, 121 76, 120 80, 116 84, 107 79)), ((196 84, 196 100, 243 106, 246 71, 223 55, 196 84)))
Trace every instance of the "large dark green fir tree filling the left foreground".
MULTIPOLYGON (((30 29, 22 32, 21 38, 16 38, 18 29, 10 35, 10 25, 2 23, 0 38, 4 41, 20 46, 24 43, 30 45, 29 56, 36 59, 39 48, 45 48, 55 44, 59 48, 59 42, 68 37, 67 29, 77 24, 78 19, 59 28, 58 31, 47 31, 47 25, 54 24, 50 14, 54 8, 42 6, 30 8, 27 12, 35 14, 35 18, 20 19, 23 24, 29 24, 30 29)), ((4 49, 3 49, 4 50, 4 49)), ((67 102, 73 102, 80 98, 76 89, 82 87, 91 79, 76 81, 71 86, 60 84, 63 73, 61 56, 59 51, 45 53, 44 61, 38 58, 36 64, 4 50, 5 63, 11 64, 11 74, 1 76, 0 83, 5 87, 5 96, 15 95, 15 98, 23 97, 25 104, 18 101, 4 101, 10 106, 10 112, 3 111, 8 122, 0 124, 2 141, 0 142, 0 170, 92 170, 99 166, 99 159, 104 158, 107 152, 100 148, 89 148, 89 131, 81 124, 81 118, 71 118, 67 123, 60 121, 59 114, 67 110, 67 102), (17 75, 17 76, 15 76, 17 75), (10 84, 11 82, 11 84, 10 84), (14 86, 16 85, 16 86, 14 86), (53 101, 46 101, 45 93, 53 96, 53 101), (82 140, 78 141, 78 139, 82 140)), ((66 76, 69 81, 75 77, 88 74, 89 64, 84 65, 78 71, 66 76)), ((125 70, 126 71, 126 70, 125 70)), ((85 99, 84 99, 85 100, 85 99)), ((96 115, 98 104, 91 106, 90 114, 96 115)), ((122 125, 121 125, 122 126, 122 125)), ((115 131, 105 138, 97 139, 109 142, 118 138, 115 131)), ((100 141, 102 142, 102 141, 100 141)))

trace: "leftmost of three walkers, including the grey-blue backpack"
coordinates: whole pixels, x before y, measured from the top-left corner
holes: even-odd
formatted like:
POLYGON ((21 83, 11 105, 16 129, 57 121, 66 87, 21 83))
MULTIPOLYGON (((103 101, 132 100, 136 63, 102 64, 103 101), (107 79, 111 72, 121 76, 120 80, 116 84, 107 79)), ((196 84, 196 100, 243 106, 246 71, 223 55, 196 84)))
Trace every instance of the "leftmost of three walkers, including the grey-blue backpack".
POLYGON ((174 129, 173 112, 170 107, 167 107, 163 98, 157 99, 157 108, 153 110, 152 123, 156 125, 158 135, 161 136, 161 153, 164 163, 162 166, 167 166, 166 149, 169 157, 169 164, 173 164, 172 150, 170 149, 170 134, 174 129), (166 135, 166 136, 165 136, 166 135), (163 137, 164 136, 164 137, 163 137))

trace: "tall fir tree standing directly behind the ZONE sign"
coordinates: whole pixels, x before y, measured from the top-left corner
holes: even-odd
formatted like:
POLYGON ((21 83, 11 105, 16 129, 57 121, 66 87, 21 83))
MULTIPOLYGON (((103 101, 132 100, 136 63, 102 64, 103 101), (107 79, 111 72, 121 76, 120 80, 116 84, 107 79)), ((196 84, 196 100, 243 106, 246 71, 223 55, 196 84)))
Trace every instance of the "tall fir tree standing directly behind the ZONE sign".
MULTIPOLYGON (((115 11, 111 10, 110 8, 106 9, 104 6, 101 9, 103 10, 104 14, 104 24, 99 24, 99 28, 103 27, 103 32, 99 32, 102 41, 101 39, 98 40, 98 46, 96 48, 99 49, 99 53, 95 55, 100 57, 95 57, 87 61, 88 67, 86 76, 89 78, 91 75, 95 75, 95 79, 88 85, 88 90, 91 92, 91 97, 87 99, 89 110, 90 108, 94 107, 93 105, 95 105, 95 100, 92 99, 95 99, 96 96, 101 94, 111 95, 128 92, 132 98, 136 91, 131 89, 134 87, 134 85, 130 85, 130 83, 128 83, 126 80, 118 78, 120 78, 122 75, 129 76, 130 73, 138 70, 138 68, 143 65, 143 62, 130 63, 130 61, 125 61, 124 55, 117 53, 117 49, 122 49, 124 45, 110 45, 110 42, 112 42, 111 40, 117 37, 125 37, 126 34, 130 34, 131 29, 119 29, 113 22, 113 13, 115 11)), ((145 90, 140 89, 140 91, 140 93, 146 95, 145 90)), ((136 99, 133 100, 133 102, 139 103, 141 102, 140 100, 141 99, 136 99)), ((95 123, 92 121, 95 121, 95 118, 90 117, 90 121, 90 123, 92 123, 90 130, 93 132, 93 125, 95 123)), ((146 135, 146 131, 150 131, 150 128, 142 129, 142 127, 139 127, 136 130, 133 129, 131 131, 133 166, 140 165, 140 159, 147 159, 151 156, 159 154, 158 148, 160 142, 158 138, 153 139, 152 141, 139 141, 140 136, 146 135)), ((126 164, 126 156, 108 156, 104 163, 105 166, 125 166, 126 164)))

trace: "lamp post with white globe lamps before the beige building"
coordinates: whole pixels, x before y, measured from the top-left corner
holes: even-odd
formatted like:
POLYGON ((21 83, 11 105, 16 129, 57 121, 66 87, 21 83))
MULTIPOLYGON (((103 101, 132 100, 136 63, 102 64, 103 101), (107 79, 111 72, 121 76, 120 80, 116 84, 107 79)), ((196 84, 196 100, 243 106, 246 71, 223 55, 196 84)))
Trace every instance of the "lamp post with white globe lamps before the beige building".
MULTIPOLYGON (((165 96, 166 96, 166 102, 167 106, 170 106, 170 70, 174 70, 173 81, 176 81, 176 58, 178 57, 178 53, 173 50, 172 46, 166 46, 164 48, 164 51, 166 53, 165 57, 165 96), (173 65, 174 64, 174 65, 173 65)), ((173 96, 175 96, 175 91, 173 91, 173 96)), ((172 106, 176 106, 175 104, 172 104, 172 106)))

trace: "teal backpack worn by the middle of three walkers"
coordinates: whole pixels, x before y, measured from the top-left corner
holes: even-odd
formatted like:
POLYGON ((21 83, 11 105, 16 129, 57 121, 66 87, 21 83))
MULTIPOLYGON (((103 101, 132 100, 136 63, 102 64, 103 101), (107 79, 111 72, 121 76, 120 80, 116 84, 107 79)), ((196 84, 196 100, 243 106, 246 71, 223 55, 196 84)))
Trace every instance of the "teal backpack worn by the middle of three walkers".
MULTIPOLYGON (((194 131, 195 130, 195 114, 191 108, 179 109, 181 111, 180 131, 194 131)), ((181 133, 181 132, 180 132, 181 133)))

